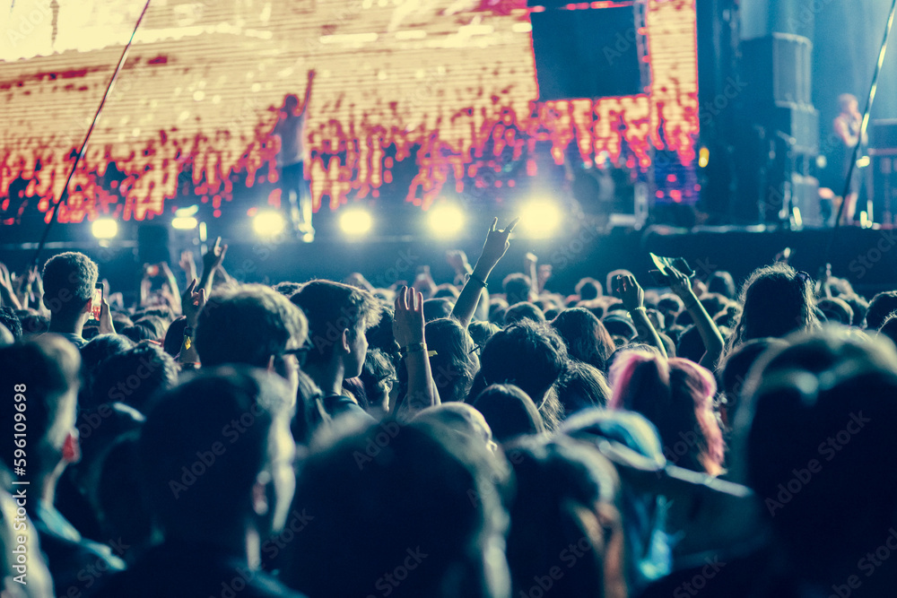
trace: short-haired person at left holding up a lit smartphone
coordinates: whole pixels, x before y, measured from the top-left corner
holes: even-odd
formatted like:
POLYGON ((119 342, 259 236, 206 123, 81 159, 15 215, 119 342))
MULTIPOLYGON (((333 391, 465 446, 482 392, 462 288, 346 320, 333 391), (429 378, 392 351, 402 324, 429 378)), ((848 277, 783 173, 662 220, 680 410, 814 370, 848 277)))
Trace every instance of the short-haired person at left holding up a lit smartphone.
POLYGON ((44 264, 44 305, 50 312, 49 332, 81 349, 84 325, 93 320, 100 334, 115 334, 109 303, 98 289, 99 270, 90 257, 76 251, 53 256, 44 264))

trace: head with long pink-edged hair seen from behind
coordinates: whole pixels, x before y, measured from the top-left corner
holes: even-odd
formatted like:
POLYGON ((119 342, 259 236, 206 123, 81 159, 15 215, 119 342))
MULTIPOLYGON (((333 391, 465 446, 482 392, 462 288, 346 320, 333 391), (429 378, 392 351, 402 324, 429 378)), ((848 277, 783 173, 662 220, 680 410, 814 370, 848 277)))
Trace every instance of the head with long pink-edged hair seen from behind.
POLYGON ((614 362, 610 381, 611 408, 648 418, 668 461, 695 472, 721 471, 723 438, 713 412, 717 384, 707 369, 689 360, 628 351, 614 362))

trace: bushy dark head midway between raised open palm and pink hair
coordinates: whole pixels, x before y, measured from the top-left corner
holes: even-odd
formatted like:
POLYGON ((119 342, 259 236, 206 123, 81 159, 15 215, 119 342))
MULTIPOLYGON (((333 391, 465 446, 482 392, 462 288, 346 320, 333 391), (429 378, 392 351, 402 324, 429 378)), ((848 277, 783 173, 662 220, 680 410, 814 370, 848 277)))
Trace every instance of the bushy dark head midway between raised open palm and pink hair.
POLYGON ((486 386, 513 384, 544 413, 549 390, 561 376, 567 360, 567 347, 550 326, 529 320, 509 325, 493 334, 483 347, 470 398, 486 386))

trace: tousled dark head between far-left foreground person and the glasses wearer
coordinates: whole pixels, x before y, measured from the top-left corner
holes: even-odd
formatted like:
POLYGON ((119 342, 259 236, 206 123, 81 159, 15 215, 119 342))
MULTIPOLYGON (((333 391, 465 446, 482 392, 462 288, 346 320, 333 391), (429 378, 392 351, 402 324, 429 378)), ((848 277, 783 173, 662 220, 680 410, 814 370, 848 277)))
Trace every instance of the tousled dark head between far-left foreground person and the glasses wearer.
POLYGON ((152 342, 141 342, 109 356, 93 370, 89 406, 118 402, 146 413, 152 395, 168 390, 177 381, 174 359, 152 342))

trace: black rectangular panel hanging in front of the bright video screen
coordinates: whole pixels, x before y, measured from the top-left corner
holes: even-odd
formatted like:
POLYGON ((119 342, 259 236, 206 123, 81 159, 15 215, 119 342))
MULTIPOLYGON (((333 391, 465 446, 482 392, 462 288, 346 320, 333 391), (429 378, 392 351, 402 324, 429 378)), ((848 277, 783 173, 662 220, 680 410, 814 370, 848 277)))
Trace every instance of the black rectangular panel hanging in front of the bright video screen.
POLYGON ((530 14, 539 100, 642 93, 631 6, 530 14))

